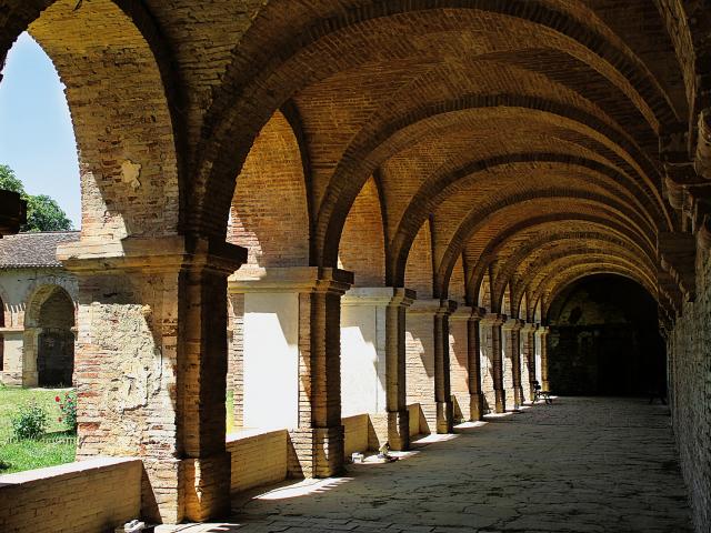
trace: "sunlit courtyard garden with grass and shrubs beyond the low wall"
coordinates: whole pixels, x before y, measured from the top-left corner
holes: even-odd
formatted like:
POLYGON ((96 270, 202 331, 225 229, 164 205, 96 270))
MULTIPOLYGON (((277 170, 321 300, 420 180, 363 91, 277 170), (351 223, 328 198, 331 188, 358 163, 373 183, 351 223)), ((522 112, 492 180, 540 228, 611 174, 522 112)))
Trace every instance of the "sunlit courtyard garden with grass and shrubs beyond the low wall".
POLYGON ((0 386, 0 475, 74 460, 72 399, 72 389, 0 386))

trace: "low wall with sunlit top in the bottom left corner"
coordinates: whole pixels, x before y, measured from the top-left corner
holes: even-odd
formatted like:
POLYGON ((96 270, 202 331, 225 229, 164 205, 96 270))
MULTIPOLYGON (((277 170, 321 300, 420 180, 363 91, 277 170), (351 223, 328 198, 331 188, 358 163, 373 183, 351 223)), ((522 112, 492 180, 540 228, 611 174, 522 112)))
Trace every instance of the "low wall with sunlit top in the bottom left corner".
POLYGON ((0 531, 113 531, 139 516, 141 475, 141 461, 126 457, 0 475, 0 531))

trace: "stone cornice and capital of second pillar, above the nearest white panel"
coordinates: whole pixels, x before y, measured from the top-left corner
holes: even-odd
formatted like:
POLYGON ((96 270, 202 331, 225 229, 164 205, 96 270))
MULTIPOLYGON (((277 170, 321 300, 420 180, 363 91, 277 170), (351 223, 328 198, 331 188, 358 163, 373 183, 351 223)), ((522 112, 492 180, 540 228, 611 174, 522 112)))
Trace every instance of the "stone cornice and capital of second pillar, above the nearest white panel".
POLYGON ((228 278, 231 294, 253 292, 331 292, 343 294, 353 283, 353 273, 321 266, 271 266, 237 271, 228 278))

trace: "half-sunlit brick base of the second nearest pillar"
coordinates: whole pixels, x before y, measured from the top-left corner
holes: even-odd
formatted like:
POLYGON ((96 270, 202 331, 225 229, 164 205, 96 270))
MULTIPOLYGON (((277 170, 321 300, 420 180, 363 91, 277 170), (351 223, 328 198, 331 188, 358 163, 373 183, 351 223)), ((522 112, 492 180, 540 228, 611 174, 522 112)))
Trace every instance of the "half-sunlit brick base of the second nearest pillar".
POLYGON ((291 477, 330 477, 343 472, 343 426, 300 428, 289 432, 291 477))

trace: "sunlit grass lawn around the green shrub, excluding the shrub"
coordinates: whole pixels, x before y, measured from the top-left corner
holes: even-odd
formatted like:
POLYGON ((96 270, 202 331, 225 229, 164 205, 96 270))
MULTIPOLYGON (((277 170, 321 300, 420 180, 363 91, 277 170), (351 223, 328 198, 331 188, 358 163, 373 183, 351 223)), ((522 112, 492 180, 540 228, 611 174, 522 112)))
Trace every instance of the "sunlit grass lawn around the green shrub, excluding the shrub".
POLYGON ((41 469, 74 460, 76 439, 59 422, 61 413, 54 396, 69 389, 10 389, 0 386, 0 474, 41 469), (36 401, 48 413, 48 434, 37 441, 12 440, 10 418, 19 405, 36 401), (8 442, 10 441, 10 442, 8 442), (9 464, 9 467, 2 469, 9 464))

